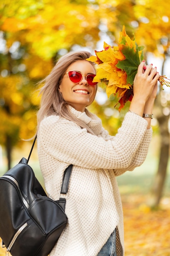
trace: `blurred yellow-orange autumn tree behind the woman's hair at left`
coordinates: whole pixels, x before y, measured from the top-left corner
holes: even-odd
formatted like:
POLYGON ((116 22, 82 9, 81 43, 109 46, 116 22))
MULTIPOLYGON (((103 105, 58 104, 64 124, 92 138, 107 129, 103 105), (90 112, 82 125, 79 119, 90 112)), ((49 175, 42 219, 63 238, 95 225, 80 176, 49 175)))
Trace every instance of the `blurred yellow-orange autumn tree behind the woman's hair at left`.
POLYGON ((56 58, 74 45, 94 47, 99 39, 99 18, 94 8, 86 6, 87 1, 14 0, 12 5, 10 1, 0 4, 0 143, 6 147, 10 168, 12 147, 35 132, 39 101, 32 93, 36 83, 49 73, 56 58))

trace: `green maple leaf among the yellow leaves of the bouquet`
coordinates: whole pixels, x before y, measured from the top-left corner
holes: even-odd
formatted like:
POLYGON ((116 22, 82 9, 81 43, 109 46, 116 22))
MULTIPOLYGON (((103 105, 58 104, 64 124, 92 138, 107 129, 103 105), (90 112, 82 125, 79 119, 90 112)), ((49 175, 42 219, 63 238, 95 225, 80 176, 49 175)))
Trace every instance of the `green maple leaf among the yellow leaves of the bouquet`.
POLYGON ((143 52, 141 54, 141 58, 139 58, 139 51, 143 50, 143 48, 144 47, 136 47, 136 52, 134 52, 134 48, 123 45, 121 52, 124 54, 126 59, 123 61, 118 61, 116 65, 116 67, 126 72, 127 83, 130 83, 131 85, 133 85, 138 66, 141 60, 144 58, 143 52))

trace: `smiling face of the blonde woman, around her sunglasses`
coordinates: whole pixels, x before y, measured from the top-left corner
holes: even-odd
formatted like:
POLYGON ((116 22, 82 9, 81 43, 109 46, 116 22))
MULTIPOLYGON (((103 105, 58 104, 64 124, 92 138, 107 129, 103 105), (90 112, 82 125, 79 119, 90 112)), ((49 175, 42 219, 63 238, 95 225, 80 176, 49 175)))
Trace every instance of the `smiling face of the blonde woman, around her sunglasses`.
POLYGON ((59 90, 64 101, 70 103, 77 111, 84 112, 86 106, 90 105, 95 98, 97 85, 90 86, 86 81, 88 74, 95 74, 95 68, 89 61, 82 60, 72 63, 66 73, 72 70, 80 72, 83 75, 82 80, 79 83, 73 83, 68 74, 65 74, 59 90))

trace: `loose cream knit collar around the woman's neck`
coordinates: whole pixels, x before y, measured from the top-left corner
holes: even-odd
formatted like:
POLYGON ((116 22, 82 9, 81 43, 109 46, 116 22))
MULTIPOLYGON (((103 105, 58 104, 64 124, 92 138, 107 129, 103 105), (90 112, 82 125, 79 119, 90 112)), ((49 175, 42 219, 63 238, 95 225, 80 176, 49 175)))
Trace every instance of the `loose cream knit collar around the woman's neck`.
POLYGON ((83 121, 86 125, 88 125, 91 130, 96 135, 99 135, 102 132, 102 121, 95 114, 92 114, 88 109, 85 109, 84 112, 80 112, 75 110, 75 108, 70 106, 70 110, 79 120, 83 121))

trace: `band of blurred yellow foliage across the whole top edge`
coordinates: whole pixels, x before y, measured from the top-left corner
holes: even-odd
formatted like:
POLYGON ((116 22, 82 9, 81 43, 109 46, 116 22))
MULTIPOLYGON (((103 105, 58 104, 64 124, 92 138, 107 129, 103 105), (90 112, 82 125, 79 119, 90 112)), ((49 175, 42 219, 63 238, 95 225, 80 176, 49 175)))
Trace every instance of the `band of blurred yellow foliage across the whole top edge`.
POLYGON ((70 49, 74 43, 84 42, 84 46, 91 44, 94 48, 93 42, 99 39, 99 22, 118 38, 123 24, 132 31, 129 24, 137 21, 139 27, 134 30, 138 45, 145 45, 147 50, 155 52, 158 52, 156 44, 169 34, 170 28, 168 2, 160 0, 157 4, 154 0, 136 1, 135 4, 125 0, 97 0, 95 4, 82 1, 77 4, 77 1, 68 0, 13 0, 12 6, 6 0, 2 10, 2 31, 16 32, 9 35, 8 40, 13 36, 21 42, 31 43, 33 51, 43 58, 51 58, 61 48, 70 49), (87 34, 91 42, 84 40, 87 34))

